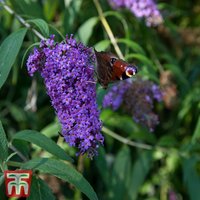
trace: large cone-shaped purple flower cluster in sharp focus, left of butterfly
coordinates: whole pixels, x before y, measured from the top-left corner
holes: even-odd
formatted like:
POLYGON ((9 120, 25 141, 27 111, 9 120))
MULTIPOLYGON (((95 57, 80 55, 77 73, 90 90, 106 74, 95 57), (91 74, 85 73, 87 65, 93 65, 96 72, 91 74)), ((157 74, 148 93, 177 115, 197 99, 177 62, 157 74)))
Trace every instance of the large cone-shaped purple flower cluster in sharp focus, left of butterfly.
POLYGON ((54 36, 41 41, 27 62, 30 76, 39 71, 44 79, 66 142, 91 158, 104 140, 96 103, 94 63, 92 49, 77 44, 72 36, 61 43, 56 43, 54 36))

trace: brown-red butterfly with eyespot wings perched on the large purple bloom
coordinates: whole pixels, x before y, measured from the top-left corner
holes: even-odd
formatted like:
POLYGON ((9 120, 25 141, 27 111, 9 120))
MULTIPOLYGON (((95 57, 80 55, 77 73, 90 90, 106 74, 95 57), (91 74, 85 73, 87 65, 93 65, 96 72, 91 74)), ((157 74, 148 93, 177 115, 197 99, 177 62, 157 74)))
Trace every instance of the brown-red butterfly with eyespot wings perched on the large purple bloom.
POLYGON ((137 67, 119 59, 112 53, 98 52, 94 49, 97 61, 97 80, 104 89, 109 83, 125 80, 137 73, 137 67))

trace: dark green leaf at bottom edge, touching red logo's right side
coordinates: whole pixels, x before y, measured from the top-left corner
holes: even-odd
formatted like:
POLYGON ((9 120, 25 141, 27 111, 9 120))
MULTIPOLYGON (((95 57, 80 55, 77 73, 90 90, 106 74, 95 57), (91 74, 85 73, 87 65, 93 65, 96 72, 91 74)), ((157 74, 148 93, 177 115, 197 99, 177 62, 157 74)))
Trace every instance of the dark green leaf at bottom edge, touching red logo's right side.
POLYGON ((53 195, 49 186, 40 178, 35 176, 32 177, 31 188, 30 188, 30 196, 27 200, 54 200, 55 196, 53 195))

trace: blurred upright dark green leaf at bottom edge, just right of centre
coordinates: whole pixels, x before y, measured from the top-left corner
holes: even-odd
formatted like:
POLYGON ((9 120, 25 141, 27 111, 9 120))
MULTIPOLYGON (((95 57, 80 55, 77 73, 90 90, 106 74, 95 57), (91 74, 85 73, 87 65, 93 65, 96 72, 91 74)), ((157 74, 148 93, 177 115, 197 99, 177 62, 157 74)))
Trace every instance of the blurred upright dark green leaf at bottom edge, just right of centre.
MULTIPOLYGON (((127 195, 126 188, 130 178, 130 149, 124 146, 118 153, 114 162, 113 173, 111 177, 111 199, 121 200, 127 195)), ((129 199, 129 198, 127 198, 129 199)))

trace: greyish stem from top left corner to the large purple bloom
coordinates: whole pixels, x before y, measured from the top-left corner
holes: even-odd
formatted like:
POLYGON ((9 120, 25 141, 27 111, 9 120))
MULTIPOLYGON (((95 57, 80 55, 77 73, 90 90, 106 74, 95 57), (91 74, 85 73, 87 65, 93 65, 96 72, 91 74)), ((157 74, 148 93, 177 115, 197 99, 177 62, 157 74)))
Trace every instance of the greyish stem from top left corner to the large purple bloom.
POLYGON ((10 14, 14 15, 15 18, 19 20, 21 24, 23 24, 26 28, 31 29, 31 31, 41 40, 45 40, 46 38, 43 37, 36 29, 32 28, 29 23, 27 23, 20 15, 16 14, 14 10, 12 10, 8 5, 5 4, 4 1, 1 1, 1 4, 3 5, 4 9, 8 11, 10 14))

